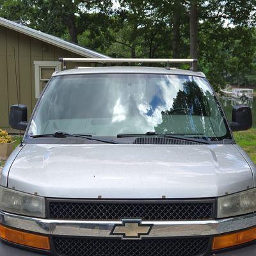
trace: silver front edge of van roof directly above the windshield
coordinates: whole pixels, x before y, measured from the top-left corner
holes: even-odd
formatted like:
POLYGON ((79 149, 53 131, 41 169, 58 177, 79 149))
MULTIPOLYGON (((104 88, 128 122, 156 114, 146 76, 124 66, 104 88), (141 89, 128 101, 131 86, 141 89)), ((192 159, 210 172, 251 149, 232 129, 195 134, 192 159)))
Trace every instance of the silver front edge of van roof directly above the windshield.
POLYGON ((159 67, 81 67, 54 72, 52 76, 65 76, 77 74, 109 74, 109 73, 143 73, 143 74, 173 74, 185 76, 205 77, 203 72, 183 70, 179 68, 159 68, 159 67))

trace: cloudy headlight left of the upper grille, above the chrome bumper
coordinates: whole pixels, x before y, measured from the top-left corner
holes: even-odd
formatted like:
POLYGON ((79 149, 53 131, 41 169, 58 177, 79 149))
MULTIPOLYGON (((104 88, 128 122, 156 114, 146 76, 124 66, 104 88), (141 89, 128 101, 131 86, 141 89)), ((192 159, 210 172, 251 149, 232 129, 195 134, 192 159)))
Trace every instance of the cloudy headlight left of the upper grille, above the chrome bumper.
POLYGON ((45 218, 45 200, 42 196, 30 195, 0 186, 0 210, 45 218))

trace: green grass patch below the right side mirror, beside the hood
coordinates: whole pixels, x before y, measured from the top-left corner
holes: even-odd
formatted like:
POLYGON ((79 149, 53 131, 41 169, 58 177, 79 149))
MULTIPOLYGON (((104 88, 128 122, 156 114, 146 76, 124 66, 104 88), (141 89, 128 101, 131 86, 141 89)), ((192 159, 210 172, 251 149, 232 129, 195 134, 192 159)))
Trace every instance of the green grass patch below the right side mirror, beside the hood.
POLYGON ((234 132, 236 143, 239 144, 256 164, 256 128, 243 132, 234 132))

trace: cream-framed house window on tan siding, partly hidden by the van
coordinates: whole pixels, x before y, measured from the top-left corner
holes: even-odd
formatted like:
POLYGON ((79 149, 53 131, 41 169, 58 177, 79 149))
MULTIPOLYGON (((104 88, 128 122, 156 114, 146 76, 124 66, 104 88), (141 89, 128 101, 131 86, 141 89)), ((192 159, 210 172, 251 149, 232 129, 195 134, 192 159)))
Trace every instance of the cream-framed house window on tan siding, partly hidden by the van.
POLYGON ((54 71, 61 70, 60 61, 34 61, 35 65, 35 97, 38 99, 54 71))

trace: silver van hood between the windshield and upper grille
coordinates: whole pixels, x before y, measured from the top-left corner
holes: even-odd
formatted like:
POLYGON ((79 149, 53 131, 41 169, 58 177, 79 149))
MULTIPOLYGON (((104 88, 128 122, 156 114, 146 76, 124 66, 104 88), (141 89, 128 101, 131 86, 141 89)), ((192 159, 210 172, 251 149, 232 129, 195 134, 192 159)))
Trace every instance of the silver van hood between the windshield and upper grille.
POLYGON ((253 187, 234 145, 26 144, 8 187, 55 198, 202 198, 253 187))

